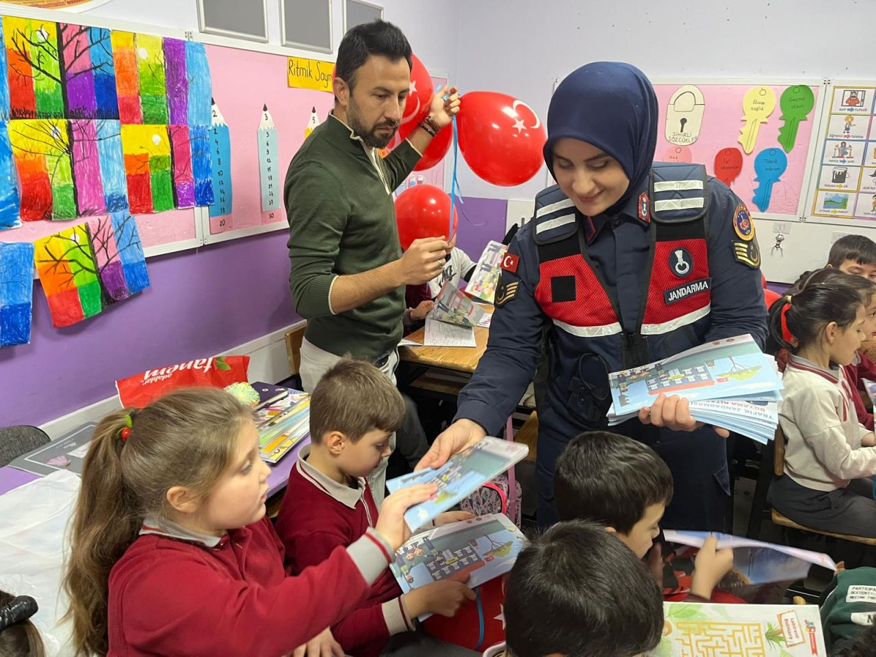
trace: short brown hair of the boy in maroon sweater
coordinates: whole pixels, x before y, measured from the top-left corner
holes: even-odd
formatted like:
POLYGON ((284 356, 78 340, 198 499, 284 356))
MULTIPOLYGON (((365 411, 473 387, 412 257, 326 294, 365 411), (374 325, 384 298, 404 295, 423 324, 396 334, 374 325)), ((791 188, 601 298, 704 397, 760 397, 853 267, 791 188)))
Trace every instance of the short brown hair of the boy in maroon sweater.
POLYGON ((332 431, 358 442, 369 431, 392 433, 405 419, 401 393, 371 363, 343 357, 322 375, 310 396, 310 440, 332 431))

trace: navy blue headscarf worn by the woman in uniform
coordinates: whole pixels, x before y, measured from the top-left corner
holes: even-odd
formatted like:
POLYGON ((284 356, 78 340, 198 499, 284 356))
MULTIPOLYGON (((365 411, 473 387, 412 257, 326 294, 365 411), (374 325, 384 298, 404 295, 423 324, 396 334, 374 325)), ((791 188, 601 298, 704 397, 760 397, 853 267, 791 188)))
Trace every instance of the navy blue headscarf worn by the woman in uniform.
POLYGON ((560 83, 548 108, 545 162, 554 175, 557 139, 586 141, 617 159, 630 179, 618 201, 646 180, 657 145, 657 96, 645 74, 631 64, 596 61, 560 83))

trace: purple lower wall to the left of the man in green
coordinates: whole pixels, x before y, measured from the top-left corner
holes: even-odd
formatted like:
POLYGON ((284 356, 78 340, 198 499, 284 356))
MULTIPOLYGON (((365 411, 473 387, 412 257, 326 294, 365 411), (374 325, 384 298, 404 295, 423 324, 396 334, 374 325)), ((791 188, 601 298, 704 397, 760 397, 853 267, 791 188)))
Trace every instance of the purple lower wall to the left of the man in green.
POLYGON ((67 329, 33 290, 30 344, 0 350, 0 426, 42 424, 116 393, 147 368, 217 352, 298 317, 286 232, 147 260, 152 286, 67 329))

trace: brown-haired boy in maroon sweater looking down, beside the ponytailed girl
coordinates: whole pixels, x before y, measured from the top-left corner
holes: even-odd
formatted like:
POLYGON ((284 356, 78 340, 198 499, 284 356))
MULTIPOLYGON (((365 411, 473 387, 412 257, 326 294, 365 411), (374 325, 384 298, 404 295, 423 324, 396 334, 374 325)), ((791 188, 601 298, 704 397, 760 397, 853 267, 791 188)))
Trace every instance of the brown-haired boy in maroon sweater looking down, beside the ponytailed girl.
MULTIPOLYGON (((320 379, 310 401, 311 444, 300 451, 277 517, 286 568, 293 574, 323 562, 335 548, 350 546, 377 522, 367 477, 389 456, 389 436, 404 415, 399 391, 371 364, 344 358, 320 379)), ((447 512, 436 524, 471 517, 447 512)), ((372 657, 392 635, 413 632, 418 616, 453 616, 474 598, 474 591, 453 579, 402 595, 385 569, 364 602, 332 633, 347 653, 372 657)))

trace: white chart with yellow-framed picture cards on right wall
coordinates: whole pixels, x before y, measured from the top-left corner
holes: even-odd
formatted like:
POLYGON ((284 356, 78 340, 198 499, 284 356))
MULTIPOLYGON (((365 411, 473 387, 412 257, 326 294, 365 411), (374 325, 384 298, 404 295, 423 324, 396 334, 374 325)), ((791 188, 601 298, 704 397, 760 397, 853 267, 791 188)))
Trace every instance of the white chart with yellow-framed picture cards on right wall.
POLYGON ((876 219, 876 86, 837 86, 830 94, 812 215, 876 219))

